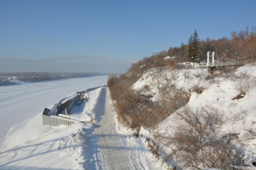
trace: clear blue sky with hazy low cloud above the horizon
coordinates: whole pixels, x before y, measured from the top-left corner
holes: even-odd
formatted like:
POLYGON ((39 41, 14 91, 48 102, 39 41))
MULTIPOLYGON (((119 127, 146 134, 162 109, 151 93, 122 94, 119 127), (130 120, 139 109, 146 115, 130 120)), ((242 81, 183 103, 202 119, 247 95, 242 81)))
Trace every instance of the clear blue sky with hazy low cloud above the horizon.
POLYGON ((125 72, 153 52, 256 27, 256 1, 0 1, 0 72, 125 72))

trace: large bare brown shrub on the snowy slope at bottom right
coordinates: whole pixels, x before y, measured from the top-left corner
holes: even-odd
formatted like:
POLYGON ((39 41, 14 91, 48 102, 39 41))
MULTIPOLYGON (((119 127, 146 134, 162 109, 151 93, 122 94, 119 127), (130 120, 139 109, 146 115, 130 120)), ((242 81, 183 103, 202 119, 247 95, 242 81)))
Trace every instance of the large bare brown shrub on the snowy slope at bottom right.
POLYGON ((168 159, 179 160, 183 168, 238 169, 241 151, 229 137, 219 137, 223 115, 212 107, 196 110, 188 106, 177 112, 174 125, 159 140, 171 149, 168 159))

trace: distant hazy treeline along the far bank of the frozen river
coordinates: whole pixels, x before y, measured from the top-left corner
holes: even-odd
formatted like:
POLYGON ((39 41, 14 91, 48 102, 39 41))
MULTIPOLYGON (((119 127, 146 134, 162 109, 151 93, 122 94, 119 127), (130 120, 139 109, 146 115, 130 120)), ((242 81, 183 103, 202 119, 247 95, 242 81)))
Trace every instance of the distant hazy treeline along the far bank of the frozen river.
POLYGON ((77 77, 89 77, 89 76, 99 76, 106 75, 103 73, 93 73, 93 72, 67 72, 67 73, 49 73, 49 72, 19 72, 19 73, 0 73, 2 76, 13 76, 17 77, 17 80, 24 82, 37 82, 46 80, 59 80, 67 78, 77 78, 77 77))

